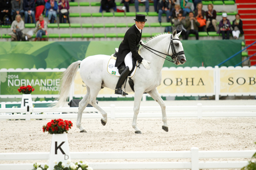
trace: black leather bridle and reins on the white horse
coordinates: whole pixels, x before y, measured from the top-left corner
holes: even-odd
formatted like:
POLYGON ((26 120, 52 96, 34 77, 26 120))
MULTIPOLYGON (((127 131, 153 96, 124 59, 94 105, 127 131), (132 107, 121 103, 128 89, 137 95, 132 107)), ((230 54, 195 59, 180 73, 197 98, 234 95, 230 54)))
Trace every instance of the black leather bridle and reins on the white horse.
POLYGON ((160 55, 154 53, 155 55, 157 55, 157 56, 159 56, 159 57, 161 57, 161 58, 163 58, 163 59, 165 59, 165 60, 167 60, 167 61, 170 61, 170 62, 172 62, 172 63, 177 64, 178 55, 182 55, 182 54, 185 54, 185 53, 184 53, 184 51, 180 51, 180 52, 176 53, 173 40, 179 40, 179 41, 180 41, 180 39, 176 39, 176 38, 173 39, 173 35, 171 34, 171 35, 170 35, 170 44, 169 44, 169 48, 168 48, 167 54, 162 53, 162 52, 159 52, 159 51, 157 51, 157 50, 154 50, 153 48, 148 47, 148 46, 146 46, 146 45, 143 45, 143 44, 141 44, 141 45, 142 45, 144 48, 146 48, 146 50, 148 50, 148 51, 150 51, 150 52, 152 52, 152 53, 154 53, 153 51, 155 51, 155 52, 157 52, 157 53, 166 55, 166 58, 164 58, 164 57, 162 57, 162 56, 160 56, 160 55), (172 55, 172 56, 169 55, 170 47, 172 47, 172 52, 173 52, 173 55, 172 55), (170 58, 167 58, 167 57, 170 57, 170 58))

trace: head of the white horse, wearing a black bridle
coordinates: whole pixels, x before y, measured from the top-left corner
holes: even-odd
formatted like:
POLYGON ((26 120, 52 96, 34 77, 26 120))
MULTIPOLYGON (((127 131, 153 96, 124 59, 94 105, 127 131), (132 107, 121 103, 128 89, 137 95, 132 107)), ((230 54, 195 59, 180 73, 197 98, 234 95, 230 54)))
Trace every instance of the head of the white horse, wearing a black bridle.
POLYGON ((172 47, 173 59, 176 65, 184 64, 186 62, 183 46, 179 39, 180 34, 181 32, 177 34, 177 31, 174 30, 173 35, 171 35, 171 38, 170 38, 170 45, 172 47))

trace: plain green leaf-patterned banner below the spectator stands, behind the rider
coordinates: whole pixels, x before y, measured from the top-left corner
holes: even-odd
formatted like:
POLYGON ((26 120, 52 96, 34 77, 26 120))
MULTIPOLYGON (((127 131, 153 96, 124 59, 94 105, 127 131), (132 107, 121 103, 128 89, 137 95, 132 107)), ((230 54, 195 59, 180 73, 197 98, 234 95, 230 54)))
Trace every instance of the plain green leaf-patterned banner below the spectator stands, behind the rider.
MULTIPOLYGON (((183 40, 182 67, 218 65, 241 50, 241 40, 183 40)), ((67 68, 92 55, 111 55, 120 41, 0 42, 0 68, 67 68)), ((157 50, 157 49, 156 49, 157 50)), ((241 53, 222 66, 241 62, 241 53)), ((165 61, 164 67, 177 67, 165 61)))

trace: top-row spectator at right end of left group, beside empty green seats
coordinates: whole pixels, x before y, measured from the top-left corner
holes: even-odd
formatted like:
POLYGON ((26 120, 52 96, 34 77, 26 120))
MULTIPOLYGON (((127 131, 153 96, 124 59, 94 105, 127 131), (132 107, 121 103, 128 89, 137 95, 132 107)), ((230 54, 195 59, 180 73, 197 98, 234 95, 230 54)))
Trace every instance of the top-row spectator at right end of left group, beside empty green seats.
POLYGON ((69 2, 60 0, 59 3, 59 23, 70 23, 69 21, 69 2))

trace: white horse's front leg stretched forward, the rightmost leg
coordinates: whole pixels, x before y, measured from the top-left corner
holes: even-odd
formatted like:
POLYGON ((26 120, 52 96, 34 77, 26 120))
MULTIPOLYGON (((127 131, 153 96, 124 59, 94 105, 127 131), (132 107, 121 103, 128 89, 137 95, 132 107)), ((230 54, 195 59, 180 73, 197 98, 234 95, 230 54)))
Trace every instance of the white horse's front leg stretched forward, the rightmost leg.
POLYGON ((162 109, 162 119, 163 119, 163 126, 162 129, 166 132, 168 132, 168 125, 167 125, 167 116, 166 116, 166 111, 165 111, 165 104, 161 98, 161 96, 159 95, 157 88, 148 91, 148 94, 150 94, 152 96, 152 98, 161 106, 162 109))

